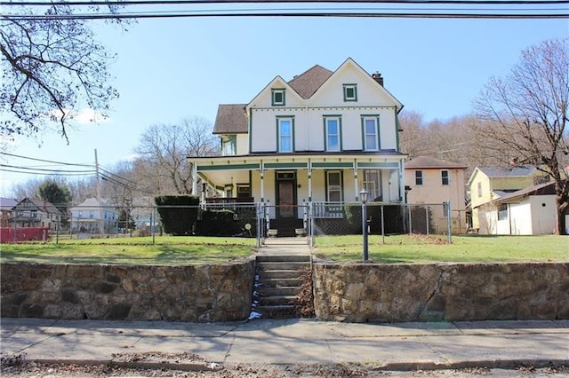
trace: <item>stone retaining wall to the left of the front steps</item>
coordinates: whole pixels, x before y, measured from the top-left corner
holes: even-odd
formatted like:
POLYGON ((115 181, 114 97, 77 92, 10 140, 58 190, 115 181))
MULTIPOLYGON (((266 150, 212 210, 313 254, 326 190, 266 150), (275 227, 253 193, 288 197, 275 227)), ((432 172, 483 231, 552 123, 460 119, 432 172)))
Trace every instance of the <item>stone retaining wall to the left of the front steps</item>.
POLYGON ((254 260, 224 265, 2 264, 8 318, 227 321, 251 311, 254 260))

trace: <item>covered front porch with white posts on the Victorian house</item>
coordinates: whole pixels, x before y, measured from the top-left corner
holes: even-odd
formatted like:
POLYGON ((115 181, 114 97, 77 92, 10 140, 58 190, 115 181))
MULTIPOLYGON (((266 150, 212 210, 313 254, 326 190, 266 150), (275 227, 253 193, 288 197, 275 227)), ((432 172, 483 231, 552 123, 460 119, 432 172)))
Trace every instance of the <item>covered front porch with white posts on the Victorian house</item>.
POLYGON ((341 217, 341 204, 359 201, 402 202, 405 155, 396 152, 357 154, 244 155, 189 158, 193 193, 203 206, 263 203, 269 219, 303 219, 312 203, 315 217, 341 217))

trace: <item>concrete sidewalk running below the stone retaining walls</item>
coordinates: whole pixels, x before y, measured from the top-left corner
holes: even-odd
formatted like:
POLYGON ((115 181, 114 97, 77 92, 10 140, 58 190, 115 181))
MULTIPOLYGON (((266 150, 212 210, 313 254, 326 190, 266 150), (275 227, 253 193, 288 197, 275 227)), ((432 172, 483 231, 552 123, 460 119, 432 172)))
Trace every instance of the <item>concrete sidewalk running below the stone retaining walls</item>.
MULTIPOLYGON (((207 363, 361 363, 386 370, 569 365, 569 320, 353 324, 316 319, 173 323, 1 319, 1 356, 108 363, 192 353, 207 363)), ((183 367, 192 361, 177 361, 183 367)), ((193 363, 195 364, 196 361, 193 363)), ((188 367, 188 366, 187 366, 188 367)))

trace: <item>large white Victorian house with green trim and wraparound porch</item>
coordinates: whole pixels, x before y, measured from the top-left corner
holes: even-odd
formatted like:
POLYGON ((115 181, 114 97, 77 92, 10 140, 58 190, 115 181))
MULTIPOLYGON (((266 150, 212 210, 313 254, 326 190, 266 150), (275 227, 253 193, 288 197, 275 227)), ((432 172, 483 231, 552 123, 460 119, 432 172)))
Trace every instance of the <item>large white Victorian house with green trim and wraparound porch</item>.
POLYGON ((363 188, 371 201, 404 201, 402 107, 380 74, 353 59, 290 81, 276 76, 249 103, 219 106, 221 156, 189 157, 193 193, 268 203, 271 218, 293 219, 309 202, 318 217, 341 217, 338 205, 358 201, 363 188))

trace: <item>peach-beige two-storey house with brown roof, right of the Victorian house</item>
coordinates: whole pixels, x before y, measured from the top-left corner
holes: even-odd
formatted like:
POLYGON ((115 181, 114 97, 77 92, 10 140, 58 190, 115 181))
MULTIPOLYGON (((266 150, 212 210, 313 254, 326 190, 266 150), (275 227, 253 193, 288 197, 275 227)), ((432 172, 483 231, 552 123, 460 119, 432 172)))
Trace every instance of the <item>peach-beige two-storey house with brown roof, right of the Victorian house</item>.
MULTIPOLYGON (((405 162, 405 193, 410 204, 440 204, 450 202, 452 232, 467 231, 466 194, 464 190, 468 167, 453 161, 429 156, 417 156, 405 162)), ((446 224, 447 209, 433 207, 434 222, 446 224)))

